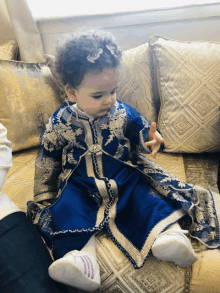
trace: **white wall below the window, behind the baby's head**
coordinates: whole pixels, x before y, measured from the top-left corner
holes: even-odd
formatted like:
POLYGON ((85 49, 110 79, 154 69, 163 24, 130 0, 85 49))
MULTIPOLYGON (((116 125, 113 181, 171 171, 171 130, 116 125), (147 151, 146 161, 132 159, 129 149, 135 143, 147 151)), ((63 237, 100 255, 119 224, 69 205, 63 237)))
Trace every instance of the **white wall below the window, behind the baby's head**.
POLYGON ((41 19, 37 24, 45 53, 52 55, 59 38, 82 26, 111 31, 122 50, 147 42, 152 34, 183 41, 220 42, 220 3, 143 12, 41 19))

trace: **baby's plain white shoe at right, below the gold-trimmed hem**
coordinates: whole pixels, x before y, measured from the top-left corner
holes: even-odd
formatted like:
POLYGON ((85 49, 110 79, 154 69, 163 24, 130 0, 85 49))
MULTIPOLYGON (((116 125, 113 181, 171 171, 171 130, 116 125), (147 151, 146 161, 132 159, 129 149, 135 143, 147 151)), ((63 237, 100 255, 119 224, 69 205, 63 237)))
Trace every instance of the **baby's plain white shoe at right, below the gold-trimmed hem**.
POLYGON ((188 231, 170 229, 161 233, 152 246, 153 255, 161 260, 173 261, 180 267, 188 267, 196 260, 196 254, 189 239, 188 231))

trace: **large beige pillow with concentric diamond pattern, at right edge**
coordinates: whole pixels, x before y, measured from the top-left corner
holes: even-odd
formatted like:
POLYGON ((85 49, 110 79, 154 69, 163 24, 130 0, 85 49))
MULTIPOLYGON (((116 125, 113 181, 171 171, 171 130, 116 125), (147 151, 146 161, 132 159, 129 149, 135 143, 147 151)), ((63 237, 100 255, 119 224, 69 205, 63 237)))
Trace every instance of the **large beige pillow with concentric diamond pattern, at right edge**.
POLYGON ((220 150, 220 43, 153 35, 160 93, 158 127, 166 152, 220 150))

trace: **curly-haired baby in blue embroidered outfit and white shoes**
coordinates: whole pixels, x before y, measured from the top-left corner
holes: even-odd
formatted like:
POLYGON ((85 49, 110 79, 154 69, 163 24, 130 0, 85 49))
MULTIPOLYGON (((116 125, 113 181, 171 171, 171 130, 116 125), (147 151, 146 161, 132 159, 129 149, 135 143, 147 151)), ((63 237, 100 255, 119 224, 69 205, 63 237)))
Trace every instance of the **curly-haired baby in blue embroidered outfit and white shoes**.
POLYGON ((149 174, 163 170, 142 155, 151 151, 156 158, 164 148, 156 123, 116 99, 121 59, 113 35, 102 30, 80 30, 57 47, 55 68, 68 100, 40 138, 40 211, 28 204, 52 249, 51 278, 85 291, 100 286, 94 235, 104 228, 136 269, 150 250, 182 267, 196 261, 187 231, 177 223, 186 213, 163 193, 175 187, 163 183, 161 194, 156 191, 160 179, 149 174))

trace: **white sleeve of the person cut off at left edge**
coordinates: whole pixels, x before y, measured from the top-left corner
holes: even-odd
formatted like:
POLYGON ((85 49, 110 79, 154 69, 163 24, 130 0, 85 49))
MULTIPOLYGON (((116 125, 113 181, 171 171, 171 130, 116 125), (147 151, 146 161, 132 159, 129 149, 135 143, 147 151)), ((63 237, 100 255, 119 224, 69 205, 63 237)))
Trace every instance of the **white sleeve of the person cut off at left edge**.
POLYGON ((11 166, 12 143, 7 139, 7 129, 0 123, 0 192, 11 166))

